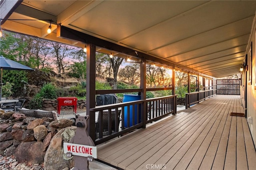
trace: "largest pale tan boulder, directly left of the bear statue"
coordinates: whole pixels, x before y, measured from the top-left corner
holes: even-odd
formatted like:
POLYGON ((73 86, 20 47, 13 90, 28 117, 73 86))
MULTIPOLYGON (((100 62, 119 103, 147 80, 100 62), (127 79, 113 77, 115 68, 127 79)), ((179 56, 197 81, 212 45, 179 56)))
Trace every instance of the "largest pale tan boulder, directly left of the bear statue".
POLYGON ((52 138, 50 145, 44 156, 44 169, 45 170, 61 170, 66 167, 74 167, 72 158, 67 158, 64 154, 63 143, 69 142, 75 135, 76 127, 70 126, 61 129, 52 138))

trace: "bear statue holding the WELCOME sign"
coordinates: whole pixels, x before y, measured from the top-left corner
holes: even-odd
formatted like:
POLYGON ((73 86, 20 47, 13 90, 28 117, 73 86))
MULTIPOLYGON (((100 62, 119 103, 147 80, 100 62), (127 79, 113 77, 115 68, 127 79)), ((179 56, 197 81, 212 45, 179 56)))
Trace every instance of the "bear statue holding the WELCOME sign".
MULTIPOLYGON (((89 136, 87 131, 86 120, 89 119, 89 116, 80 116, 76 115, 76 133, 74 137, 70 140, 70 143, 80 144, 80 145, 89 145, 95 146, 92 138, 89 136)), ((71 152, 66 153, 67 157, 74 156, 74 169, 73 170, 89 170, 89 162, 92 162, 94 158, 92 156, 77 156, 72 155, 71 152)))

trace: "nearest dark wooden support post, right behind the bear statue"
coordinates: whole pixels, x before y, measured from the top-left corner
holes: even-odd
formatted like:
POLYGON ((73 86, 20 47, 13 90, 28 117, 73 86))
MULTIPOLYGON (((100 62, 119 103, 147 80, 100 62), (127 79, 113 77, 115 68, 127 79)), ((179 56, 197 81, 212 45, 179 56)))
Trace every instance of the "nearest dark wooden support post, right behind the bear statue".
POLYGON ((86 43, 86 49, 86 115, 90 116, 88 131, 92 141, 95 142, 95 112, 90 111, 90 108, 95 107, 96 46, 92 43, 86 43))

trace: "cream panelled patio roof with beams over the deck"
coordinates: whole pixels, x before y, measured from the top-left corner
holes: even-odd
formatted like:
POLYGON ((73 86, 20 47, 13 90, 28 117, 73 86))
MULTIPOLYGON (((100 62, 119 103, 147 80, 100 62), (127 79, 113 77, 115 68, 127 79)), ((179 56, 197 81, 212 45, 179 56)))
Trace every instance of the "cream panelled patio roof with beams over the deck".
POLYGON ((250 44, 255 11, 256 1, 0 2, 4 30, 81 48, 89 41, 86 37, 73 40, 58 37, 57 25, 61 25, 109 42, 96 44, 98 52, 123 58, 143 56, 148 63, 214 78, 239 72, 250 44), (52 33, 48 34, 50 22, 52 33), (113 44, 133 52, 118 51, 113 44))

